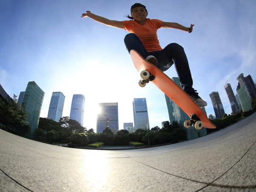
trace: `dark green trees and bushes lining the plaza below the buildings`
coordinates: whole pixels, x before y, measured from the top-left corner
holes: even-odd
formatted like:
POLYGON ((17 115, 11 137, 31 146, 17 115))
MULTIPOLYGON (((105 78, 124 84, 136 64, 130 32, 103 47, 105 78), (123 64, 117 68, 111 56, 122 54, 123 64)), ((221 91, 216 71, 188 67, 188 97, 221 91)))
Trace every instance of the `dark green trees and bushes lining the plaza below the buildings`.
MULTIPOLYGON (((256 100, 252 100, 253 110, 237 113, 234 115, 224 114, 223 118, 212 120, 217 129, 207 129, 207 133, 223 129, 241 118, 247 117, 256 111, 256 100)), ((17 95, 7 98, 7 101, 0 99, 0 128, 6 131, 24 136, 29 132, 26 111, 20 109, 17 102, 17 95)), ((59 122, 52 119, 39 119, 38 128, 35 129, 35 140, 48 143, 71 143, 78 146, 100 142, 105 145, 128 145, 129 142, 145 143, 145 145, 159 145, 165 143, 177 143, 187 140, 186 129, 177 121, 164 123, 160 128, 155 126, 150 130, 137 129, 134 133, 121 129, 113 134, 111 129, 106 128, 102 133, 95 133, 94 129, 81 126, 76 120, 70 117, 61 117, 59 122)))

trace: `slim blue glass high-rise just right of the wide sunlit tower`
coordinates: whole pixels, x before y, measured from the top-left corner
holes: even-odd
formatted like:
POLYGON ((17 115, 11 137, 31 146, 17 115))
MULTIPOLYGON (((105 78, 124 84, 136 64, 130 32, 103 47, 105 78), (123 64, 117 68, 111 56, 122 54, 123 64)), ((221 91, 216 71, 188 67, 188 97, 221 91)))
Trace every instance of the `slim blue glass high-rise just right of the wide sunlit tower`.
POLYGON ((135 129, 150 130, 146 98, 134 98, 132 102, 135 129))

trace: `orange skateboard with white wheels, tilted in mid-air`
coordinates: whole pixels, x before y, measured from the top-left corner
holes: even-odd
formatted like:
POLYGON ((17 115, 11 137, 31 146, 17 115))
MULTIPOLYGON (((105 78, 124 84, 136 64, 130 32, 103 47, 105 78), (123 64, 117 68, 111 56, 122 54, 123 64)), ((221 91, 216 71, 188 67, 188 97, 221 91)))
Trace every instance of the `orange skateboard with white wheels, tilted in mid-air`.
POLYGON ((201 129, 202 127, 209 129, 216 128, 195 101, 165 73, 146 61, 137 51, 131 50, 130 54, 131 60, 142 78, 142 80, 139 81, 139 85, 144 87, 146 83, 151 81, 158 89, 175 102, 180 109, 190 117, 190 120, 184 122, 184 127, 189 128, 190 126, 195 126, 195 129, 201 129))

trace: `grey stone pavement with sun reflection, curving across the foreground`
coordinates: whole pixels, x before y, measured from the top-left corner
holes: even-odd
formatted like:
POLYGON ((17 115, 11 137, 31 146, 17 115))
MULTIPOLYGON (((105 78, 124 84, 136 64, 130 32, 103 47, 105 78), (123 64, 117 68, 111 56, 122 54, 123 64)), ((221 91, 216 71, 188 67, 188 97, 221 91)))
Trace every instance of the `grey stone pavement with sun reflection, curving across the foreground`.
POLYGON ((133 150, 73 149, 0 129, 0 192, 256 191, 256 113, 194 140, 133 150))

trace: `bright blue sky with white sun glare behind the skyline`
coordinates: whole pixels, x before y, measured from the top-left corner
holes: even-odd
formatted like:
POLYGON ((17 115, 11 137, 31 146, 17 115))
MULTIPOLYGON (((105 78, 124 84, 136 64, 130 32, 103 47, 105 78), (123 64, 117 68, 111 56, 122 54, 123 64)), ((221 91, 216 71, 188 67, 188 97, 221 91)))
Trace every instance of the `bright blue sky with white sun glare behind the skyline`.
MULTIPOLYGON (((133 98, 145 97, 150 127, 161 126, 169 120, 164 94, 153 84, 138 86, 140 76, 123 41, 128 32, 80 17, 90 10, 128 20, 134 3, 146 6, 148 18, 195 24, 191 34, 159 29, 160 45, 183 46, 194 88, 208 103, 207 115, 214 115, 209 97, 214 90, 231 113, 224 83, 228 80, 236 94, 239 74, 256 80, 255 0, 1 1, 0 84, 9 95, 19 95, 35 81, 45 92, 41 117, 47 117, 52 92, 66 96, 63 116, 70 115, 73 94, 83 94, 88 129, 96 129, 96 103, 117 102, 122 129, 123 123, 133 122, 133 98)), ((177 77, 174 66, 165 73, 177 77)))

